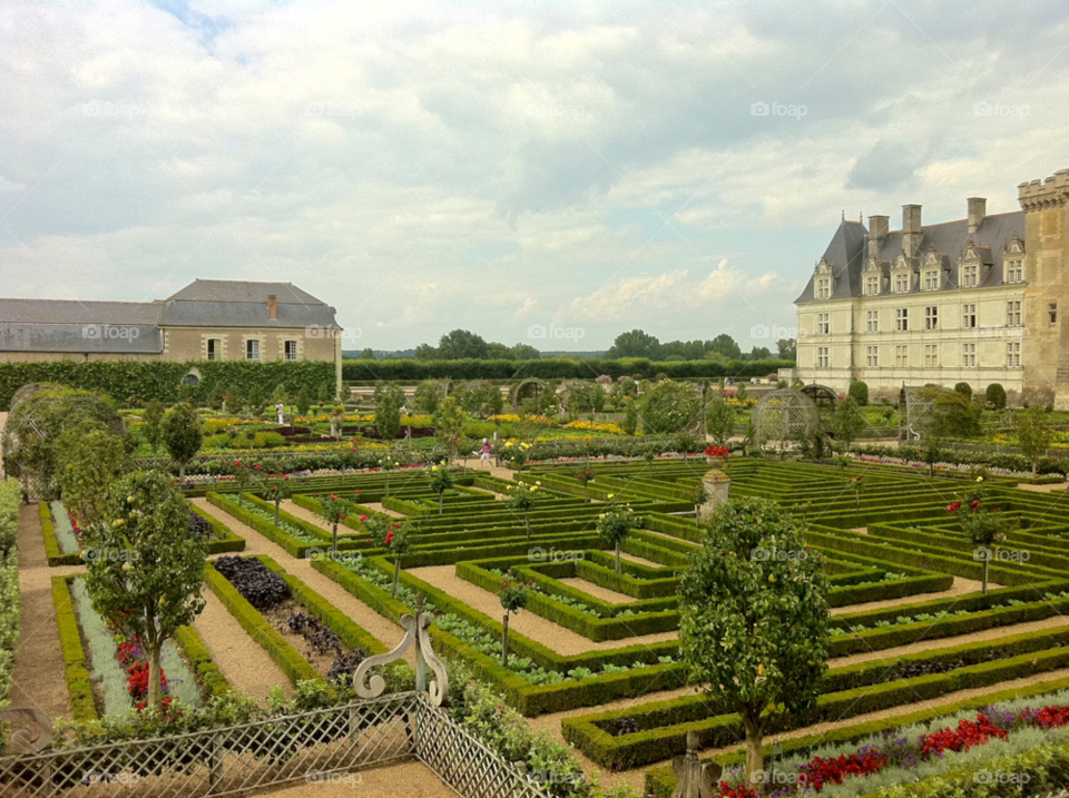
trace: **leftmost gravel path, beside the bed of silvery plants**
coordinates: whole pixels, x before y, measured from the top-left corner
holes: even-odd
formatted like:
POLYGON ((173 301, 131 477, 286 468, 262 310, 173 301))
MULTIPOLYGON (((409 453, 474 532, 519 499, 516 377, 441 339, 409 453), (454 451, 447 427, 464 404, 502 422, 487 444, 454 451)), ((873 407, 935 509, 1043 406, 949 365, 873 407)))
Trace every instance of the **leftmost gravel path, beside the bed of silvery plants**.
POLYGON ((19 648, 14 652, 12 707, 32 707, 53 720, 70 719, 70 694, 63 671, 63 652, 56 624, 52 577, 80 573, 80 565, 49 568, 37 504, 20 508, 19 589, 22 594, 22 622, 19 648))

